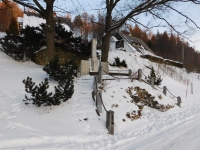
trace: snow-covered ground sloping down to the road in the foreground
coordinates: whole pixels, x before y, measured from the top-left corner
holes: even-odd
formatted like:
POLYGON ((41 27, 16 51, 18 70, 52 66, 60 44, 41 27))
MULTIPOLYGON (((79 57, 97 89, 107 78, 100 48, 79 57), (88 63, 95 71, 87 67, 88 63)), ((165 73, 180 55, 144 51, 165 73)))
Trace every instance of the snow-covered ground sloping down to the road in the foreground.
MULTIPOLYGON (((115 57, 125 59, 134 72, 142 69, 145 75, 154 67, 172 94, 182 99, 181 108, 176 99, 162 90, 130 79, 107 80, 102 92, 107 110, 113 110, 115 134, 110 135, 105 126, 106 113, 98 116, 92 99, 93 77, 75 79, 75 92, 60 106, 36 107, 25 105, 26 94, 22 80, 27 76, 39 84, 48 77, 42 66, 32 62, 19 63, 0 52, 0 149, 1 150, 198 150, 200 149, 200 80, 197 73, 165 67, 140 58, 139 53, 110 52, 109 62, 115 57), (187 81, 189 85, 187 88, 187 81), (194 91, 191 94, 190 83, 194 91), (131 121, 125 115, 138 110, 126 93, 128 87, 140 86, 156 97, 160 104, 174 108, 160 112, 144 107, 142 117, 131 121), (187 90, 188 89, 188 90, 187 90), (187 90, 187 98, 186 98, 187 90), (162 99, 158 99, 161 95, 162 99), (118 104, 118 107, 112 107, 118 104), (84 120, 87 118, 87 120, 84 120), (122 121, 125 119, 126 121, 122 121)), ((110 67, 124 70, 125 68, 110 67)), ((103 78, 109 78, 104 76, 103 78)), ((144 77, 143 77, 144 78, 144 77)), ((50 81, 50 91, 56 82, 50 81)), ((100 84, 99 84, 100 86, 100 84)))

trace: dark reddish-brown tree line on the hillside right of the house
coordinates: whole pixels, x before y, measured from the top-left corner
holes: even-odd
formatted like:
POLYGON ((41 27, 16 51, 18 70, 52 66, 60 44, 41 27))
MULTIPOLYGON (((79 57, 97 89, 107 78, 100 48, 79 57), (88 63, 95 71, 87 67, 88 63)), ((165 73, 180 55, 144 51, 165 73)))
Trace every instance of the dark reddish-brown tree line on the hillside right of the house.
POLYGON ((200 72, 200 52, 195 51, 188 42, 181 40, 174 33, 157 32, 156 34, 141 30, 138 26, 130 27, 132 36, 141 38, 153 52, 163 57, 178 62, 183 62, 188 71, 200 72), (184 49, 184 60, 182 59, 182 50, 184 49))

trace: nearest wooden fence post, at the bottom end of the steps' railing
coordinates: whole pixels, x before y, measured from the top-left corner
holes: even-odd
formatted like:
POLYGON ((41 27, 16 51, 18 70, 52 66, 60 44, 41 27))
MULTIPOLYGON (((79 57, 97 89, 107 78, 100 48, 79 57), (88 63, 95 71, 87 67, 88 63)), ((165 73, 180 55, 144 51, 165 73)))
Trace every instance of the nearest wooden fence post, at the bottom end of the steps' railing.
POLYGON ((114 111, 112 110, 106 112, 106 128, 109 134, 114 134, 114 111))

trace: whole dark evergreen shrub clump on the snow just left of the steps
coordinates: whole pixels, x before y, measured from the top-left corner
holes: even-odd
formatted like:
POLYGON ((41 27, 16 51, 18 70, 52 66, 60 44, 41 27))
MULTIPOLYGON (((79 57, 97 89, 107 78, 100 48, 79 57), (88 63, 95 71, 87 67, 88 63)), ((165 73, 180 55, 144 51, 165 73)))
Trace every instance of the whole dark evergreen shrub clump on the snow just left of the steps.
POLYGON ((59 62, 58 56, 55 56, 49 64, 44 67, 44 71, 49 74, 50 79, 59 81, 58 86, 54 87, 54 95, 48 93, 48 79, 36 86, 32 78, 27 77, 23 80, 25 91, 31 94, 31 97, 25 95, 25 104, 30 104, 28 101, 33 101, 32 104, 40 107, 60 105, 61 101, 66 102, 74 93, 74 70, 77 69, 74 60, 66 60, 63 64, 59 62))

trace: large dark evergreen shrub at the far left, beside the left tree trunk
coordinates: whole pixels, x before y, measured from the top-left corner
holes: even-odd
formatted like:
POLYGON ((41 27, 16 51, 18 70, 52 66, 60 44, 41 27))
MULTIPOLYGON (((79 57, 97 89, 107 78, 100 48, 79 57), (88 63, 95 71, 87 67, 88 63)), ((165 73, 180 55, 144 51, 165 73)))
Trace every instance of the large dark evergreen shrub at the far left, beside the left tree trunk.
POLYGON ((27 26, 22 29, 22 35, 11 34, 0 39, 2 51, 17 61, 31 60, 34 53, 45 45, 45 36, 38 27, 27 26))

